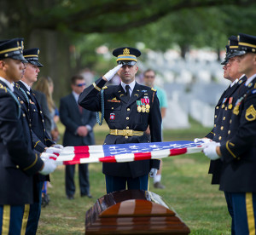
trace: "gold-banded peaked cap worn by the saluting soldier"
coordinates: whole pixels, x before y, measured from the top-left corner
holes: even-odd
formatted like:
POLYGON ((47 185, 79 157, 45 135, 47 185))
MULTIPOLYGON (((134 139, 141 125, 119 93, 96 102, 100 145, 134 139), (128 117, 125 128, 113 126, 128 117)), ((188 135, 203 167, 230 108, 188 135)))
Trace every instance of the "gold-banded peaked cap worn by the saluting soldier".
POLYGON ((134 66, 141 52, 138 49, 126 47, 114 49, 113 55, 118 58, 116 61, 119 65, 134 66))

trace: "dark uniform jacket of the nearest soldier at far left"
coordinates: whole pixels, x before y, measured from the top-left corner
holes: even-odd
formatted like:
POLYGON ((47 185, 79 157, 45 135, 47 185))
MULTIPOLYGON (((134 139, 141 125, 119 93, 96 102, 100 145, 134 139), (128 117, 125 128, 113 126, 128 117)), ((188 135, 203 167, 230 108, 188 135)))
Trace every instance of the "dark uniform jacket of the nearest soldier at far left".
POLYGON ((0 81, 0 204, 34 202, 33 175, 43 161, 32 150, 26 113, 0 81))

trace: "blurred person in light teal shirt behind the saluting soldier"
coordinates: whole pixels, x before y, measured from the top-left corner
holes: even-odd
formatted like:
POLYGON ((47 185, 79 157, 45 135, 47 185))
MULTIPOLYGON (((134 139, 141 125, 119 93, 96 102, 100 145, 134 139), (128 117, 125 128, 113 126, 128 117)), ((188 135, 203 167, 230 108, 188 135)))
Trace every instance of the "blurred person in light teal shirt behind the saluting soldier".
MULTIPOLYGON (((167 100, 167 96, 166 96, 166 91, 164 89, 160 89, 159 87, 154 85, 154 81, 155 81, 155 72, 152 69, 148 69, 144 72, 144 77, 143 77, 143 82, 146 86, 150 87, 150 88, 154 88, 157 90, 157 97, 159 99, 159 103, 160 103, 160 112, 161 112, 161 116, 162 119, 164 117, 166 117, 166 108, 168 106, 168 100, 167 100)), ((162 125, 163 126, 163 125, 162 125)), ((148 135, 150 135, 150 129, 148 128, 146 130, 146 133, 148 135)), ((162 133, 163 135, 163 133, 162 133)), ((162 140, 163 140, 163 136, 162 136, 162 140)), ((165 188, 166 186, 163 186, 161 184, 161 172, 162 172, 162 165, 163 165, 163 161, 160 159, 160 169, 157 171, 157 174, 154 176, 154 187, 155 188, 165 188)))

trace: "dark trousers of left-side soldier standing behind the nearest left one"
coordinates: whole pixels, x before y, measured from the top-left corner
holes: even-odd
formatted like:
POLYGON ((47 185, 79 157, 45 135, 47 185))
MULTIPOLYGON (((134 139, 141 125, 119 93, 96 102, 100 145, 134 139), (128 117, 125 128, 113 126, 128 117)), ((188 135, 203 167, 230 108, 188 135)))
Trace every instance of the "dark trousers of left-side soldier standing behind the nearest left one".
POLYGON ((39 202, 38 203, 32 203, 30 205, 30 211, 26 226, 26 234, 27 235, 33 235, 37 234, 38 230, 38 221, 41 214, 41 203, 42 203, 42 188, 43 188, 44 181, 38 181, 37 182, 37 190, 39 195, 39 202))

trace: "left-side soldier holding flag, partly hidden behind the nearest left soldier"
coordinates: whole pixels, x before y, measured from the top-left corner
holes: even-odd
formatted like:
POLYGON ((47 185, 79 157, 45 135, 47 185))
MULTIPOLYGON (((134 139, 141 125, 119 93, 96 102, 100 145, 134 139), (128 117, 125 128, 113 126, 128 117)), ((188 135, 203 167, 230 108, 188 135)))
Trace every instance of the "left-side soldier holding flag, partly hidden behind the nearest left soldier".
MULTIPOLYGON (((49 137, 45 129, 44 113, 31 89, 32 83, 37 81, 38 72, 40 72, 39 67, 43 66, 38 61, 39 49, 25 49, 23 55, 28 63, 21 80, 15 83, 15 95, 20 100, 21 108, 29 117, 33 148, 38 152, 60 153, 62 146, 55 145, 55 142, 49 137)), ((49 181, 49 175, 35 175, 34 177, 37 181, 38 201, 31 205, 26 234, 36 234, 37 232, 41 213, 42 187, 44 181, 49 181)))

